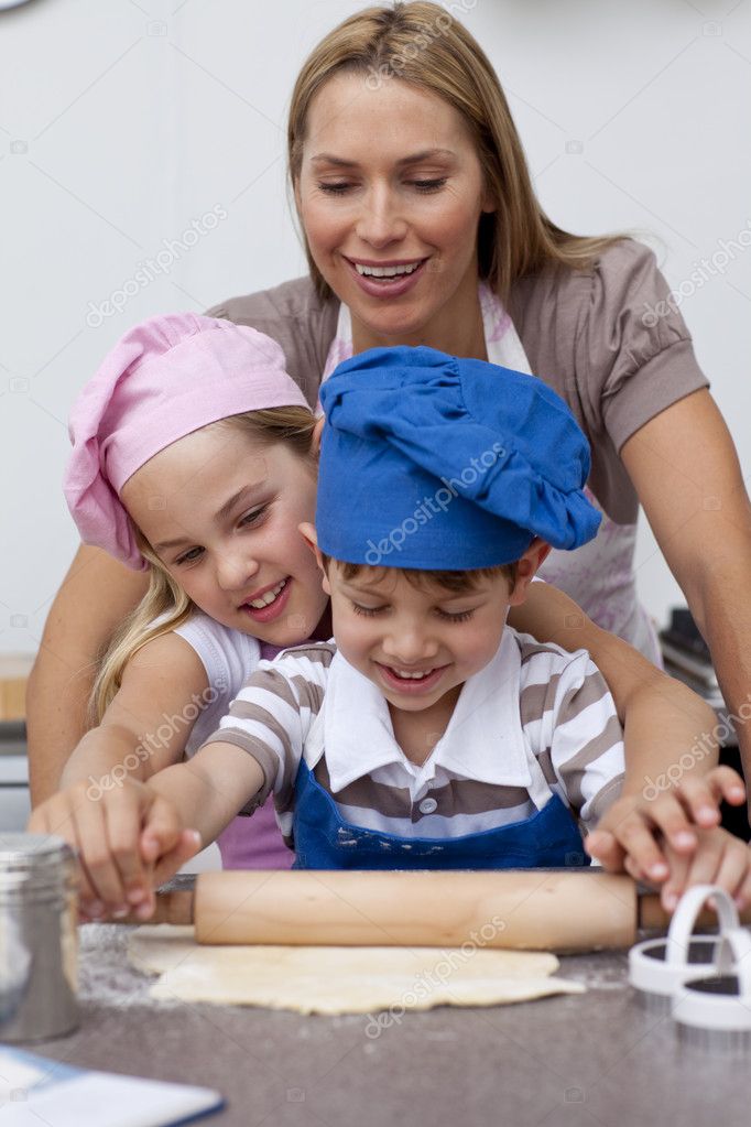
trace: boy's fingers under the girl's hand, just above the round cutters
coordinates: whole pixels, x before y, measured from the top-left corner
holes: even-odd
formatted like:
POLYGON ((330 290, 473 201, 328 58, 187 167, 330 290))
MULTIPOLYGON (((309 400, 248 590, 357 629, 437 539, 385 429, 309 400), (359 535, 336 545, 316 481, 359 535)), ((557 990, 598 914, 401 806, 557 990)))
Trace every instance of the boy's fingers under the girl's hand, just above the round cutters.
POLYGON ((751 904, 751 849, 734 834, 715 826, 696 829, 697 848, 692 855, 677 853, 665 845, 670 876, 660 899, 672 912, 680 896, 692 885, 719 885, 742 911, 751 904))

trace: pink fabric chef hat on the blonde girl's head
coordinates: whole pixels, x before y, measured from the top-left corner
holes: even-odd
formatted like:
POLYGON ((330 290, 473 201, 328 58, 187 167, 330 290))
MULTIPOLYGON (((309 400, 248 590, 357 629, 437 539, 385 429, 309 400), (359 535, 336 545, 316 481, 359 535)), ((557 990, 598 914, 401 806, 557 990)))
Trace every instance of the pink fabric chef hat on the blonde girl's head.
MULTIPOLYGON (((71 411, 63 491, 86 544, 145 570, 119 500, 144 462, 209 423, 309 407, 270 337, 196 313, 152 317, 118 340, 71 411)), ((309 408, 310 409, 310 408, 309 408)))

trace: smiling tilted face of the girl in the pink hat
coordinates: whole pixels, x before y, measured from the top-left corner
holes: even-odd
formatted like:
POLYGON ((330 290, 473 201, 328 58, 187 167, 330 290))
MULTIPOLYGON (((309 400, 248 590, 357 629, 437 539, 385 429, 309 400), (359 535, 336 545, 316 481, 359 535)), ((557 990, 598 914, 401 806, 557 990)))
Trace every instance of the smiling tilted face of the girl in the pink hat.
POLYGON ((203 427, 142 465, 120 499, 211 618, 275 646, 313 632, 328 600, 298 525, 314 517, 315 473, 288 447, 203 427))

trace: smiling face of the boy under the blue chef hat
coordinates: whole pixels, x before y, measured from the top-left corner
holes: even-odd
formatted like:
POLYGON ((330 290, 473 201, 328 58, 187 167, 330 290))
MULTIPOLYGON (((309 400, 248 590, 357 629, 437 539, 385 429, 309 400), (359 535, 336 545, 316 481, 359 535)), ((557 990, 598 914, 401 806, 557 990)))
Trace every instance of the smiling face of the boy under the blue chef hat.
MULTIPOLYGON (((536 544, 537 553, 547 554, 547 545, 536 544)), ((459 595, 433 584, 415 586, 397 569, 363 568, 347 580, 331 561, 323 587, 331 595, 337 646, 392 707, 428 709, 495 654, 508 609, 524 601, 542 561, 525 560, 516 584, 499 573, 459 595)))

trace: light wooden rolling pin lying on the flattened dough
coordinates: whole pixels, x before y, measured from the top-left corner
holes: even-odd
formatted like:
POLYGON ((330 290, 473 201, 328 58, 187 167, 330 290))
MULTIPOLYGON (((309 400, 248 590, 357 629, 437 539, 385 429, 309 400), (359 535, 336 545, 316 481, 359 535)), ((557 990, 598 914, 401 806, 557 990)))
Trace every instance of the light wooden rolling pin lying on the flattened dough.
MULTIPOLYGON (((194 923, 199 943, 592 951, 670 922, 631 877, 591 870, 202 872, 157 902, 149 923, 194 923)), ((712 912, 699 921, 714 924, 712 912)))

